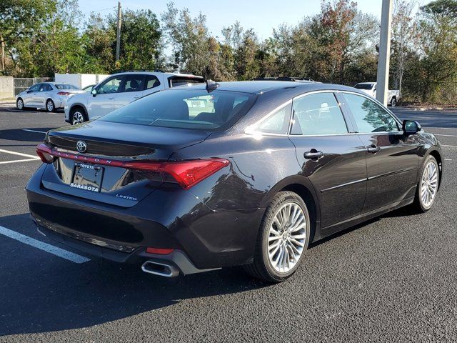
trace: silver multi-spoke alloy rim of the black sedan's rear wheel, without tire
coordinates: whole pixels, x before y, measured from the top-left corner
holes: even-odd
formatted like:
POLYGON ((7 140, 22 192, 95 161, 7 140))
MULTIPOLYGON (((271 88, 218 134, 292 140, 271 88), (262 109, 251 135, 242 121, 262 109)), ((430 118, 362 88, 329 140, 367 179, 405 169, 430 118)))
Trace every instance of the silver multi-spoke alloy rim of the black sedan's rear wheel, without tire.
POLYGON ((300 260, 306 242, 306 217, 295 202, 283 204, 271 222, 268 232, 268 258, 271 267, 287 273, 300 260))

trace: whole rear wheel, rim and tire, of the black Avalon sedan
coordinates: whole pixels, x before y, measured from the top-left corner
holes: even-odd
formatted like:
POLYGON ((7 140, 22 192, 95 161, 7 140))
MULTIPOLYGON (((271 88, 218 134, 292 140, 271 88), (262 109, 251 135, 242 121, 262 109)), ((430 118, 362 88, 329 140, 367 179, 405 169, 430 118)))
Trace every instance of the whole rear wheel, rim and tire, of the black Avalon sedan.
POLYGON ((296 272, 308 248, 309 214, 298 194, 278 192, 258 232, 253 262, 246 272, 265 282, 282 282, 296 272))

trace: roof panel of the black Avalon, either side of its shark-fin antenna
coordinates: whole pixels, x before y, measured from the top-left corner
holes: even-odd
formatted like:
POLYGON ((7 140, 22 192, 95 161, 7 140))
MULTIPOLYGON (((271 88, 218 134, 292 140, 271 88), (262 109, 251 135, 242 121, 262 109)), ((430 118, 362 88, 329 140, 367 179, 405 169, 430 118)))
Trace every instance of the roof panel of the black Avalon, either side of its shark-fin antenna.
MULTIPOLYGON (((291 93, 301 94, 308 91, 318 90, 346 90, 353 91, 353 87, 341 86, 339 84, 322 84, 321 82, 314 81, 229 81, 218 82, 218 90, 221 91, 241 91, 243 93, 263 94, 268 91, 278 89, 295 89, 291 93)), ((183 89, 192 87, 196 89, 206 89, 206 84, 189 84, 189 86, 179 86, 173 89, 183 89)))

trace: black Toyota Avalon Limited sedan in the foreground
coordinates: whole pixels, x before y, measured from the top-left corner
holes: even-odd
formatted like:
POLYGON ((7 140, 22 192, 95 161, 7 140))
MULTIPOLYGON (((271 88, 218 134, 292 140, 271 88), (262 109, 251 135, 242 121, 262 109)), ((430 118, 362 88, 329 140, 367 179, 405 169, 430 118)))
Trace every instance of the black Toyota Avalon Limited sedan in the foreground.
POLYGON ((243 265, 281 282, 311 242, 431 209, 443 173, 416 121, 311 81, 159 91, 51 130, 36 151, 26 192, 40 232, 166 277, 243 265))

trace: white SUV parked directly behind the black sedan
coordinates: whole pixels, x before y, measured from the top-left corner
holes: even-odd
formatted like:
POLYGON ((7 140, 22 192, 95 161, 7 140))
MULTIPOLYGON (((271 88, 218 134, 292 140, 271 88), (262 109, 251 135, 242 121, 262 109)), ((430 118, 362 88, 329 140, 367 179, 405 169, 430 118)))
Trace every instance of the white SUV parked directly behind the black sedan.
POLYGON ((124 71, 112 74, 92 91, 76 94, 65 105, 65 121, 79 124, 99 118, 136 99, 173 86, 204 82, 201 76, 163 71, 124 71))

